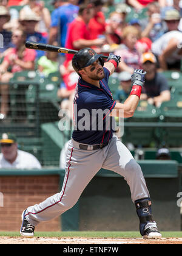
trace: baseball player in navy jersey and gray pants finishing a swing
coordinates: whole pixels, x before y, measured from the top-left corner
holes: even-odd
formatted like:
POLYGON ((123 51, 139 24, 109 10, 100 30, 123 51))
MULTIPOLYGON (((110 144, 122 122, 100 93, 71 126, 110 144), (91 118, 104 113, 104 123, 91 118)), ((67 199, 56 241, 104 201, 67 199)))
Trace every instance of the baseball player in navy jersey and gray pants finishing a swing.
POLYGON ((73 56, 72 65, 79 75, 73 102, 76 129, 73 130, 67 149, 62 190, 40 204, 24 210, 20 230, 22 236, 32 237, 35 226, 40 222, 49 221, 72 208, 93 176, 99 169, 104 168, 123 176, 129 185, 143 238, 161 238, 152 217, 150 195, 140 165, 113 134, 112 127, 109 129, 106 124, 108 119, 113 119, 113 115, 120 117, 121 112, 124 113, 124 118, 133 115, 144 84, 146 72, 136 69, 131 76, 132 90, 129 97, 123 104, 114 101, 108 80, 120 62, 120 56, 109 54, 107 62, 104 63, 101 55, 91 48, 81 49, 73 56), (79 129, 81 116, 78 113, 83 109, 89 113, 87 120, 94 120, 90 123, 90 129, 79 129), (98 129, 99 120, 92 116, 93 109, 104 111, 103 129, 98 129), (91 127, 94 122, 96 129, 91 127))

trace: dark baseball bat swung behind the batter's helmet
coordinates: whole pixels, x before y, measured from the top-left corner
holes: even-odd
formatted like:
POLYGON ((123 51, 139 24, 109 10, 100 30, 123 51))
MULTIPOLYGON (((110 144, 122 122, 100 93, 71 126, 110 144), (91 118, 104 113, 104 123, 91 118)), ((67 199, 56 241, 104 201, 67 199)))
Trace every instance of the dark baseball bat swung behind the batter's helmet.
MULTIPOLYGON (((47 52, 59 52, 64 54, 75 54, 76 52, 78 52, 76 50, 62 48, 52 44, 35 43, 30 41, 25 42, 25 47, 29 49, 35 49, 35 50, 41 50, 41 51, 47 51, 47 52)), ((105 55, 102 55, 101 57, 103 57, 104 59, 108 58, 108 56, 105 56, 105 55)))

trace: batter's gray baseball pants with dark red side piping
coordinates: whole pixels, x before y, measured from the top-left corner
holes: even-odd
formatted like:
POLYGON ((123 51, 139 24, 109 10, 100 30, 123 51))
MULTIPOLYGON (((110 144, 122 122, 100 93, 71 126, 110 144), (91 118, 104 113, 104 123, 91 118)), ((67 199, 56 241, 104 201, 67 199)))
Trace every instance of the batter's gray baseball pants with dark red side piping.
POLYGON ((48 197, 40 204, 28 207, 25 213, 27 221, 36 226, 39 222, 53 219, 72 208, 101 168, 124 177, 130 187, 133 202, 149 197, 140 165, 116 135, 113 135, 103 149, 89 151, 79 149, 79 143, 71 140, 67 149, 66 174, 61 192, 48 197))

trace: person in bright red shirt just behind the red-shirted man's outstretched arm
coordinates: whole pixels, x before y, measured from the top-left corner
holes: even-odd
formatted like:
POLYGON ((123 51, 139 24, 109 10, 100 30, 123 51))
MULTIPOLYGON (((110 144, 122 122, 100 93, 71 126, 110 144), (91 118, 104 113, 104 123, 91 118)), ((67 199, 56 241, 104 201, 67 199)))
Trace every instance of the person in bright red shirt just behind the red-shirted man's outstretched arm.
POLYGON ((103 2, 101 0, 93 0, 94 16, 90 19, 88 29, 90 31, 90 39, 99 38, 99 35, 104 35, 106 31, 106 21, 104 13, 101 12, 103 2))

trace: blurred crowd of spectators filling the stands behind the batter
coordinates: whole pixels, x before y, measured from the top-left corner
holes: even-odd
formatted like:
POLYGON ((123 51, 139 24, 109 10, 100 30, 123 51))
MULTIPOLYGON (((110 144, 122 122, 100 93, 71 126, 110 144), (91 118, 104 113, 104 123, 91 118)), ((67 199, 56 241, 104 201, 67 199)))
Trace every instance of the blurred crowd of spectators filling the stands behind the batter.
MULTIPOLYGON (((0 122, 12 120, 15 109, 10 108, 15 99, 10 82, 14 81, 15 87, 17 74, 23 71, 34 71, 40 80, 57 79, 56 95, 51 96, 50 82, 46 85, 50 101, 56 99, 59 109, 69 110, 72 118, 78 80, 71 65, 73 55, 27 49, 27 40, 75 50, 92 47, 104 55, 120 55, 121 63, 110 80, 113 98, 124 102, 134 69, 142 68, 147 74, 141 102, 147 102, 152 115, 156 114, 157 108, 174 102, 179 94, 180 86, 174 88, 170 79, 179 85, 181 17, 181 0, 0 0, 0 122)), ((35 93, 30 90, 29 86, 29 94, 24 94, 27 101, 35 93)), ((45 94, 42 98, 45 100, 45 94)), ((139 105, 138 110, 146 110, 146 105, 139 105)))

